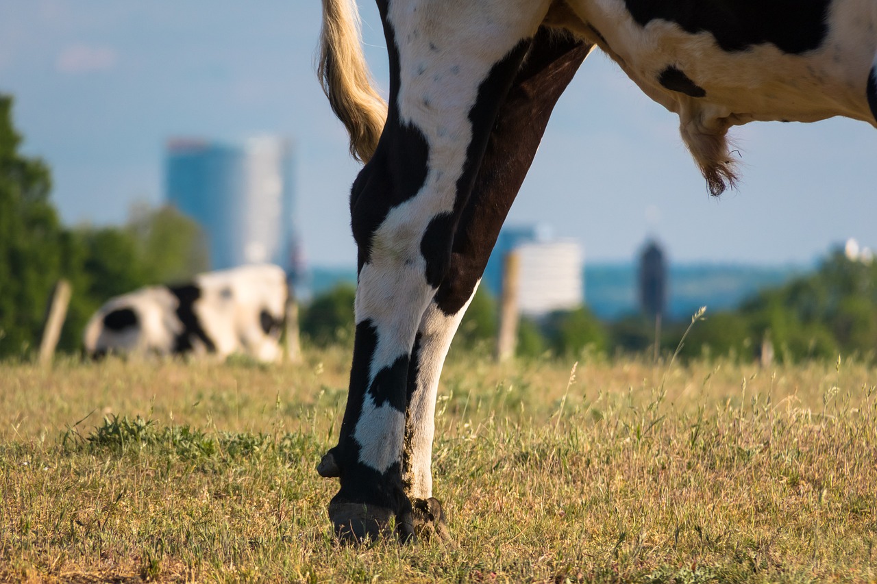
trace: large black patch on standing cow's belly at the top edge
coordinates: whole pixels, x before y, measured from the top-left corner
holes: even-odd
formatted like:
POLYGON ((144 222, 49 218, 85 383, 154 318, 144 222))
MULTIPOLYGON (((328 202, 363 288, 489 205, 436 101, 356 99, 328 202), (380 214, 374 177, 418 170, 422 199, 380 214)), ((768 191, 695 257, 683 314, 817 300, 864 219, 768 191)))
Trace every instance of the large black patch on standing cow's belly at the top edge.
POLYGON ((831 0, 624 0, 641 26, 675 23, 692 34, 709 32, 724 51, 771 44, 784 53, 805 53, 828 34, 831 0))

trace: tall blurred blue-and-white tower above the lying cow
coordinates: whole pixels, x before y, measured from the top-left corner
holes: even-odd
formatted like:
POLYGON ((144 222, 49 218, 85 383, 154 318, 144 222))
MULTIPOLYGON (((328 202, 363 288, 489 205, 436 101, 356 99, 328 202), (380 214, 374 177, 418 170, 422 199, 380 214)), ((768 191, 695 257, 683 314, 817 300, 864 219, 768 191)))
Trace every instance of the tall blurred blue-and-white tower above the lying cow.
POLYGON ((168 203, 201 224, 211 269, 271 262, 301 274, 292 159, 289 142, 270 136, 168 142, 168 203))

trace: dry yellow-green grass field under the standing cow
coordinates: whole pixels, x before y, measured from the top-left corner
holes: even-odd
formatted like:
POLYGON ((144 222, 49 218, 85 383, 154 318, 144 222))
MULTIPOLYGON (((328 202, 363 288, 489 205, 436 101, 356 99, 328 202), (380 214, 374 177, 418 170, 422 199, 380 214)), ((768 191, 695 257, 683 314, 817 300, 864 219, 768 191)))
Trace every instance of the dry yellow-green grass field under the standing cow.
POLYGON ((875 581, 877 369, 453 354, 453 542, 338 545, 348 353, 0 365, 0 580, 875 581))

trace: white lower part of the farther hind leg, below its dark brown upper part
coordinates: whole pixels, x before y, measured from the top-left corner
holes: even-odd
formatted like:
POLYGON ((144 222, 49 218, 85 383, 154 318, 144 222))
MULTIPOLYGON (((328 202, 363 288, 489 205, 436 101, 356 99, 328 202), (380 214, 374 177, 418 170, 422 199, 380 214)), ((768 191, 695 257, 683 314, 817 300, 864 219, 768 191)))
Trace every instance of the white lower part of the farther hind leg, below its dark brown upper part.
POLYGON ((439 377, 448 349, 451 348, 453 335, 457 332, 477 289, 478 283, 463 308, 451 316, 439 310, 435 303, 431 303, 420 323, 417 388, 408 405, 411 438, 408 467, 403 474, 403 481, 410 485, 408 495, 411 498, 428 499, 432 496, 432 438, 435 435, 439 377))

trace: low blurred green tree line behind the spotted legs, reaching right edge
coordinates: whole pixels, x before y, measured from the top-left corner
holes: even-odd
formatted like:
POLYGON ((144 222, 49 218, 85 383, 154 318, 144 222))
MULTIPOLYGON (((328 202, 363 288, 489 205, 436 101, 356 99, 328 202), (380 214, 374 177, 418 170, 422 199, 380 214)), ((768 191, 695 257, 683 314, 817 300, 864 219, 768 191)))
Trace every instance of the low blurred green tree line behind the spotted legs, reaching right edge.
MULTIPOLYGON (((342 284, 317 296, 303 311, 303 338, 314 345, 353 343, 351 284, 342 284)), ((498 331, 496 299, 479 289, 455 350, 493 350, 498 331)), ((631 314, 601 321, 586 307, 560 310, 518 325, 517 355, 522 358, 578 359, 582 353, 652 354, 655 322, 631 314)), ((857 354, 873 359, 877 350, 877 264, 850 260, 838 250, 811 274, 747 298, 737 310, 712 313, 709 309, 693 325, 691 320, 664 323, 660 353, 681 358, 759 357, 765 341, 776 360, 837 359, 857 354), (689 329, 690 326, 690 330, 689 329), (686 331, 688 333, 686 334, 686 331), (684 342, 682 338, 684 337, 684 342)))

